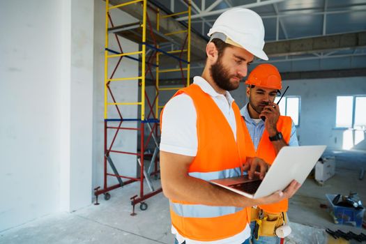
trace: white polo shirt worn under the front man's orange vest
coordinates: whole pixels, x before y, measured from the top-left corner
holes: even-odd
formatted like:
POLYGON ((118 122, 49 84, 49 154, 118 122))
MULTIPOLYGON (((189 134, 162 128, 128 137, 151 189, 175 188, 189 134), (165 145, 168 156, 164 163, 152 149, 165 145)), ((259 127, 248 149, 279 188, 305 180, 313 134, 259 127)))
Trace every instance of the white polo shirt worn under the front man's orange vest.
MULTIPOLYGON (((217 93, 202 77, 194 77, 193 84, 197 84, 201 87, 202 91, 211 96, 227 119, 227 122, 234 134, 234 138, 236 139, 236 121, 234 110, 231 107, 231 104, 234 102, 234 98, 231 97, 228 91, 225 95, 217 93)), ((162 114, 162 121, 160 151, 193 157, 197 155, 197 113, 190 96, 182 93, 171 98, 171 100, 167 102, 167 105, 165 105, 164 113, 162 114)), ((247 224, 241 233, 220 241, 204 242, 190 240, 181 236, 173 226, 171 226, 171 233, 176 235, 178 243, 183 243, 183 241, 185 241, 186 244, 241 244, 243 243, 243 240, 249 238, 250 227, 249 224, 247 224)))

